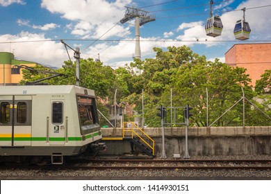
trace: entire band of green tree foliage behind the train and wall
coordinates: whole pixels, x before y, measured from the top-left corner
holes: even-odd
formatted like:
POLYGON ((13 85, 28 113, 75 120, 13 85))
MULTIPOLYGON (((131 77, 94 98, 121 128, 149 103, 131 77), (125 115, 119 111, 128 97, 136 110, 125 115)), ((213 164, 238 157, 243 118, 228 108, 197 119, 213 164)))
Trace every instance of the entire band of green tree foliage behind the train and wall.
MULTIPOLYGON (((167 51, 154 48, 156 58, 141 61, 135 59, 130 66, 113 71, 105 67, 101 62, 92 59, 81 59, 80 82, 82 87, 95 89, 99 99, 104 99, 108 105, 113 105, 115 91, 117 89, 117 103, 133 105, 133 110, 142 115, 142 98, 144 98, 145 123, 149 127, 161 126, 161 120, 156 113, 156 107, 167 107, 167 121, 170 121, 170 98, 172 90, 173 107, 184 107, 187 104, 193 107, 190 125, 207 125, 207 96, 208 89, 208 124, 210 125, 220 117, 227 109, 234 105, 243 96, 271 116, 270 96, 261 96, 261 103, 254 100, 256 92, 252 90, 251 80, 243 68, 229 67, 227 64, 215 60, 206 61, 204 55, 193 53, 187 46, 168 47, 167 51), (141 73, 138 73, 141 71, 141 73), (142 91, 144 89, 144 97, 142 91)), ((44 69, 42 66, 37 69, 44 69)), ((48 69, 47 69, 48 70, 48 69)), ((47 80, 50 85, 74 85, 75 64, 65 62, 65 67, 56 70, 64 73, 67 78, 54 78, 47 80)), ((256 91, 270 91, 271 71, 265 71, 261 80, 256 82, 256 91)), ((44 74, 31 73, 24 70, 24 80, 33 81, 44 78, 44 74)), ((101 101, 101 100, 100 100, 101 101)), ((231 111, 213 123, 213 126, 243 125, 243 101, 237 103, 231 111)), ((109 117, 108 109, 104 103, 98 103, 98 107, 106 117, 109 117)), ((183 109, 176 109, 178 123, 183 121, 183 109)), ((246 125, 270 125, 270 119, 262 115, 252 104, 245 103, 246 125)), ((124 121, 132 118, 125 117, 124 121)), ((106 125, 106 121, 101 120, 106 125)))

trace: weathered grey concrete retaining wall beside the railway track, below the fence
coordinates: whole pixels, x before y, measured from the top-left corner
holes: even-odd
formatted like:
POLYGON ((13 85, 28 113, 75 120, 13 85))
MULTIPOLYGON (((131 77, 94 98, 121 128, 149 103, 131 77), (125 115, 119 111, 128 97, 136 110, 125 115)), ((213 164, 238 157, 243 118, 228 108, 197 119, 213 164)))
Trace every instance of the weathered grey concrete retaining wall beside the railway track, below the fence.
MULTIPOLYGON (((155 155, 161 156, 161 128, 145 128, 155 141, 155 155)), ((122 129, 104 128, 104 137, 120 137, 122 129)), ((131 151, 128 140, 104 141, 108 150, 104 155, 122 155, 131 151)), ((165 154, 184 156, 185 128, 165 128, 165 154)), ((190 127, 188 152, 192 156, 207 155, 271 155, 271 127, 190 127)))

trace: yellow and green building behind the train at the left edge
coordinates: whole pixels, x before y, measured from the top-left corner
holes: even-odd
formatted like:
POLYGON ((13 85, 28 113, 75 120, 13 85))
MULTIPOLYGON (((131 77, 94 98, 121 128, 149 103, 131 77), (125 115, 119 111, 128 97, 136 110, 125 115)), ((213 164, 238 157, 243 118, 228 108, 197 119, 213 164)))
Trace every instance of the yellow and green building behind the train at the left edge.
POLYGON ((35 67, 35 62, 28 62, 24 60, 15 60, 13 53, 0 52, 0 86, 1 85, 18 85, 22 80, 22 69, 15 65, 26 65, 28 67, 35 67))

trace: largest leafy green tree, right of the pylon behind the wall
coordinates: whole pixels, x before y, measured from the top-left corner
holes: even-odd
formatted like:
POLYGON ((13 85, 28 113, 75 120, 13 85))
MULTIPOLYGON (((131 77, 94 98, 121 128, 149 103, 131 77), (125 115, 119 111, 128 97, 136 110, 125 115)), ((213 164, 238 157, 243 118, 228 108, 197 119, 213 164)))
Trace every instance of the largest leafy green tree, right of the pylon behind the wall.
MULTIPOLYGON (((167 51, 154 48, 156 58, 144 62, 135 61, 133 67, 142 68, 141 75, 134 75, 141 80, 145 89, 145 122, 159 126, 156 107, 170 107, 170 89, 173 91, 173 107, 189 104, 194 107, 192 125, 206 126, 206 88, 209 94, 210 119, 214 121, 242 96, 241 87, 245 88, 246 97, 255 95, 250 86, 251 80, 243 68, 229 67, 215 60, 206 61, 206 57, 193 53, 187 46, 168 47, 167 51)), ((141 89, 142 90, 142 89, 141 89)), ((141 109, 141 90, 126 97, 126 101, 141 109)), ((247 106, 246 109, 250 109, 247 106)), ((240 122, 243 107, 237 105, 233 111, 223 116, 214 125, 235 125, 240 122)), ((182 118, 183 115, 178 115, 182 118)))

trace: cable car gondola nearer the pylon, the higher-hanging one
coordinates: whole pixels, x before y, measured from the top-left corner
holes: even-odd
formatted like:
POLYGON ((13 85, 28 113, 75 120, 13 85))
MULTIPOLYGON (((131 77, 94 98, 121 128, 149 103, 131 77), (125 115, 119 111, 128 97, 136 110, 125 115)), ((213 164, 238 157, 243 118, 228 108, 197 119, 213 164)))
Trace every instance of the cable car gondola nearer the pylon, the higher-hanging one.
POLYGON ((218 15, 213 16, 212 5, 213 5, 213 1, 211 0, 210 1, 210 17, 206 21, 205 31, 206 31, 206 35, 211 36, 211 37, 217 37, 221 35, 222 33, 223 24, 218 15))

